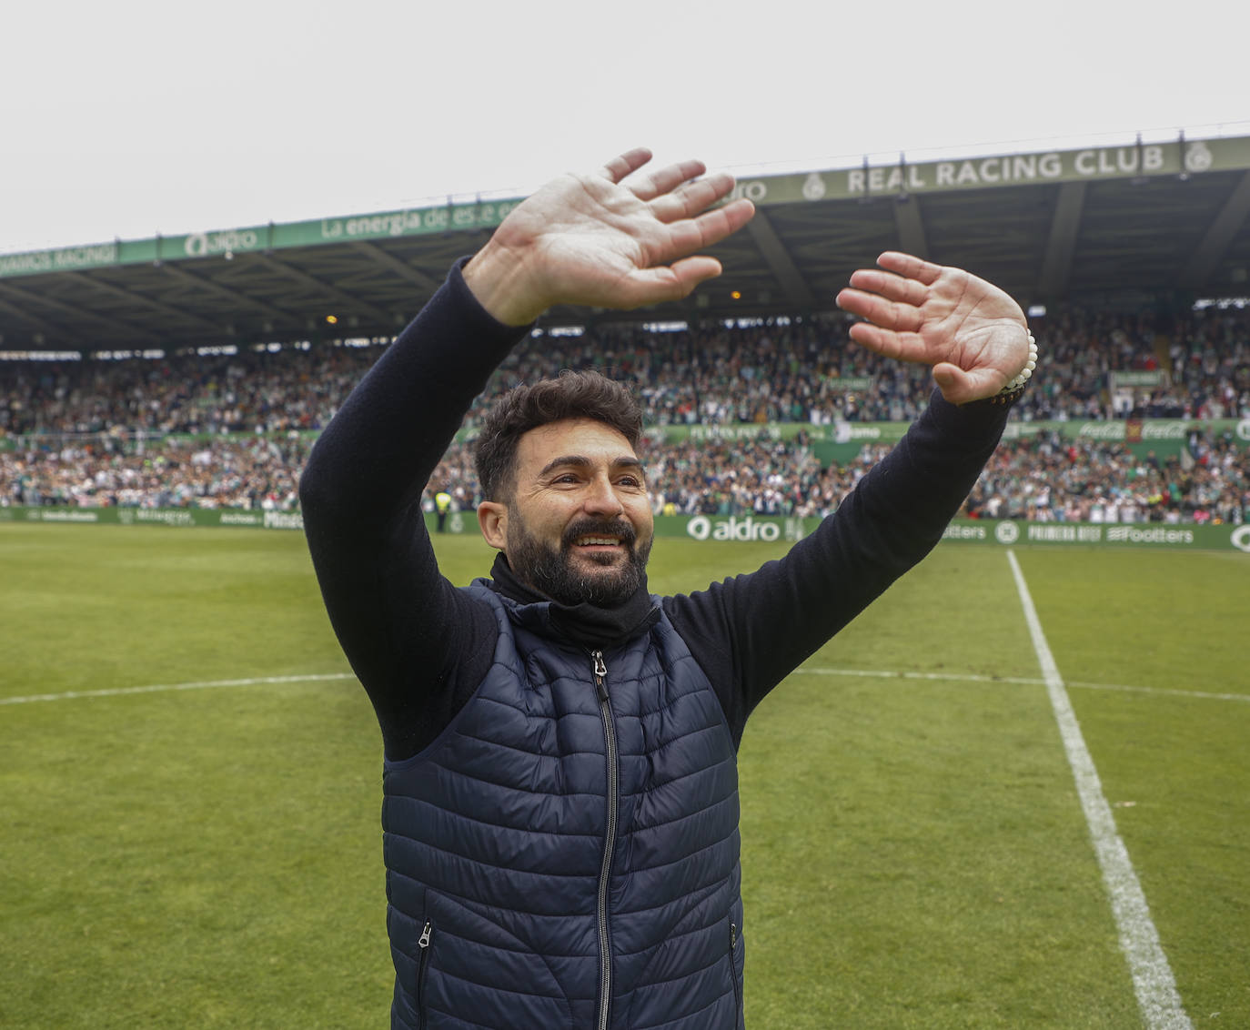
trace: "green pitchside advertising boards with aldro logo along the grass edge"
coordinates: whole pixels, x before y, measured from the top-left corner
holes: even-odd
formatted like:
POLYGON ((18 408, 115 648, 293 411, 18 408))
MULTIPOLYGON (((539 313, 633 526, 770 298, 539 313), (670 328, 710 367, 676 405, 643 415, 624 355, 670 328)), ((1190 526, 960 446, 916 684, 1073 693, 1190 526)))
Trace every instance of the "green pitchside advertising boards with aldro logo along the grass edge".
MULTIPOLYGON (((242 526, 248 529, 304 529, 298 511, 244 511, 206 508, 0 508, 4 522, 54 525, 160 525, 242 526)), ((438 516, 426 512, 431 534, 439 532, 438 516)), ((659 539, 718 540, 740 542, 794 542, 815 530, 819 519, 768 515, 658 515, 659 539)), ((476 534, 471 511, 452 511, 445 532, 476 534)), ((956 519, 942 534, 944 542, 989 546, 1109 546, 1174 548, 1182 550, 1238 550, 1250 554, 1250 524, 1168 525, 1161 522, 1029 522, 1015 519, 956 519)))

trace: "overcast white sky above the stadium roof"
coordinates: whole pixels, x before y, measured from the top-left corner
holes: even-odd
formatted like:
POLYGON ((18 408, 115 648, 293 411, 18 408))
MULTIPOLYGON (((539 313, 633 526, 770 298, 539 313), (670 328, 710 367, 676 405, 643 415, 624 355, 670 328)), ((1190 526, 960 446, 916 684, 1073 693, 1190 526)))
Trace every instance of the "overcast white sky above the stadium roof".
POLYGON ((1240 0, 14 0, 0 252, 521 195, 635 145, 784 171, 1250 135, 1248 29, 1240 0))

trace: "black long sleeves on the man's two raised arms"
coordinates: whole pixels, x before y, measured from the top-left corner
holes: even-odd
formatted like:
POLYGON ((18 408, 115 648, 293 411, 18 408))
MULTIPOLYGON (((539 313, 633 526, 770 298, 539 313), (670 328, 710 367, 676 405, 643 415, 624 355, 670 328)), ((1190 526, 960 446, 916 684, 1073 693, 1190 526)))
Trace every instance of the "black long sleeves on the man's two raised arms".
MULTIPOLYGON (((526 335, 481 308, 458 265, 344 402, 300 481, 330 621, 392 760, 431 742, 491 662, 494 616, 439 572, 420 500, 474 398, 526 335)), ((935 392, 906 436, 785 558, 662 599, 735 742, 769 690, 932 549, 1005 420, 1004 406, 956 408, 935 392)), ((515 592, 505 578, 495 585, 515 592)))

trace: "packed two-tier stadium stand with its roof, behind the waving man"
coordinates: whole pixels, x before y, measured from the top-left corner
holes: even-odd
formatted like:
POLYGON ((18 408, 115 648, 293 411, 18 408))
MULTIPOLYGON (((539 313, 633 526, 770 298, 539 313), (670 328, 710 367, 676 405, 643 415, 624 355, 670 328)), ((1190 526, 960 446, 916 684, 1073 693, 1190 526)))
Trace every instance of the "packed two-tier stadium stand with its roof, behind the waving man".
MULTIPOLYGON (((1040 348, 965 514, 1241 524, 1250 139, 740 178, 759 214, 681 302, 558 309, 489 392, 632 382, 659 514, 819 516, 928 402, 832 298, 888 249, 1028 306, 1040 348)), ((515 199, 0 254, 0 505, 295 511, 318 431, 515 199)), ((474 409, 431 491, 480 499, 474 409)), ((432 496, 432 495, 431 495, 432 496)), ((429 499, 428 499, 429 500, 429 499)))

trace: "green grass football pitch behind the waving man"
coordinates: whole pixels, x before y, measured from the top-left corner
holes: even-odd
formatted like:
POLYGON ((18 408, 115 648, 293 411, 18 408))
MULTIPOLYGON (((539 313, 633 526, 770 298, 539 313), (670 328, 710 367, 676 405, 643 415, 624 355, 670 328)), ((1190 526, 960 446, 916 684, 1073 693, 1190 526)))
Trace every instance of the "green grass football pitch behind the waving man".
MULTIPOLYGON (((1250 1026, 1250 556, 1016 556, 1185 1009, 1250 1026)), ((302 538, 0 525, 0 1026, 386 1025, 380 736, 302 538)), ((748 1025, 1142 1025, 1001 550, 939 548, 740 771, 748 1025)))

